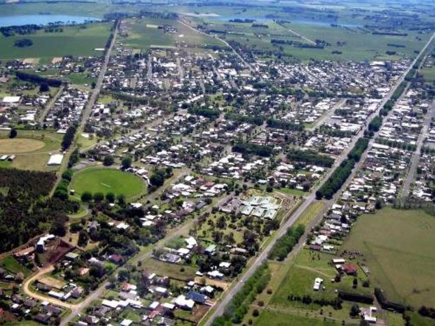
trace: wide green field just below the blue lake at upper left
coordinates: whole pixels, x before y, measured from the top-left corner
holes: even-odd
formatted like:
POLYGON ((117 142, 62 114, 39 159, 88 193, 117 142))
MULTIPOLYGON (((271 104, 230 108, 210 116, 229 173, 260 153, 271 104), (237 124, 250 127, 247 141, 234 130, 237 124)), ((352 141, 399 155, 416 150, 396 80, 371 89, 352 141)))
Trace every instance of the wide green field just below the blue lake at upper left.
POLYGON ((104 48, 110 28, 109 23, 95 23, 86 25, 86 28, 65 26, 62 33, 38 31, 30 35, 0 35, 0 59, 103 55, 103 51, 94 49, 104 48), (33 45, 25 48, 14 46, 15 41, 22 38, 32 40, 33 45))

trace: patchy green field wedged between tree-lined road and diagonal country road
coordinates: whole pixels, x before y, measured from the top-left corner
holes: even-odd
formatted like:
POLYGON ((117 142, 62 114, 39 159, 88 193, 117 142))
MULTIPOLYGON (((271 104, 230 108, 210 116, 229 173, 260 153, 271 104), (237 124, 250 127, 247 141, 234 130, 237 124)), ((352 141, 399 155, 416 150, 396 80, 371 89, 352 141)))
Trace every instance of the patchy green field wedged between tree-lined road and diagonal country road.
POLYGON ((180 22, 163 19, 128 19, 128 37, 123 41, 124 45, 133 49, 147 50, 149 48, 171 48, 177 43, 190 45, 224 45, 221 41, 210 36, 195 32, 180 22), (165 33, 155 26, 171 25, 177 29, 176 33, 165 33))

